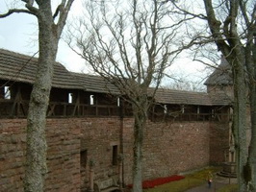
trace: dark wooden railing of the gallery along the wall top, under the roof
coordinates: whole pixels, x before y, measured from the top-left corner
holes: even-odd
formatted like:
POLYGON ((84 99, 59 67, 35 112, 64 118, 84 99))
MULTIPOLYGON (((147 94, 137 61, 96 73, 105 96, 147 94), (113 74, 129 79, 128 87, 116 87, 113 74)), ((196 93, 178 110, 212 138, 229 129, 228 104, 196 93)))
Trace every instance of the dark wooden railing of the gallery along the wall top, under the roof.
MULTIPOLYGON (((29 101, 0 99, 0 118, 25 118, 28 114, 29 101)), ((131 108, 114 105, 86 105, 50 102, 47 117, 84 117, 84 116, 132 116, 131 108)), ((151 121, 219 121, 229 122, 231 117, 227 113, 175 113, 172 115, 153 113, 149 115, 151 121)))

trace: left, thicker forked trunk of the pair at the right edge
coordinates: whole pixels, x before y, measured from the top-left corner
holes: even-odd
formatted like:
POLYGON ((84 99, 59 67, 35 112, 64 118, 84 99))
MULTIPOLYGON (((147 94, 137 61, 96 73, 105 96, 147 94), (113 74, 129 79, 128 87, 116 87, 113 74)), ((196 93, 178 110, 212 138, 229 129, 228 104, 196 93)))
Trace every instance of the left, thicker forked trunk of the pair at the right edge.
MULTIPOLYGON (((207 21, 211 29, 211 33, 218 46, 218 50, 222 52, 226 60, 230 63, 233 70, 233 83, 234 83, 234 119, 233 119, 233 133, 236 141, 237 152, 237 172, 239 191, 249 191, 247 188, 248 176, 251 177, 250 166, 247 163, 248 150, 246 145, 246 99, 247 88, 245 84, 244 69, 247 64, 246 58, 251 56, 252 51, 246 52, 243 46, 241 36, 238 30, 238 12, 243 11, 245 2, 228 1, 226 19, 221 23, 217 19, 212 0, 204 0, 205 11, 207 12, 207 21), (244 4, 243 4, 244 3, 244 4), (222 25, 221 25, 222 24, 222 25), (250 167, 250 168, 248 168, 250 167)), ((244 15, 246 17, 246 15, 244 15)), ((248 23, 248 18, 245 19, 248 23)), ((244 28, 245 29, 245 28, 244 28)), ((245 33, 246 34, 246 33, 245 33)), ((247 39, 248 40, 248 39, 247 39)), ((248 43, 249 41, 247 41, 248 43)), ((251 82, 252 83, 252 82, 251 82)), ((254 84, 254 82, 253 82, 254 84)), ((253 90, 252 90, 253 91, 253 90)), ((251 137, 254 140, 254 137, 251 137)), ((250 158, 249 158, 250 159, 250 158)), ((251 159, 252 162, 254 161, 251 159)), ((248 161, 249 162, 249 161, 248 161)))

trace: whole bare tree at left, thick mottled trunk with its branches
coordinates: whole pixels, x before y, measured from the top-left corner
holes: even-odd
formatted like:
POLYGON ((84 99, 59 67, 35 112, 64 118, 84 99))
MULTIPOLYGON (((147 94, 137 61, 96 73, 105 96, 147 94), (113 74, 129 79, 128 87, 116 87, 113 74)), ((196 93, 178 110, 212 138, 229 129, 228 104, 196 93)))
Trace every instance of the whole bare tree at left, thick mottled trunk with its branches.
POLYGON ((11 9, 0 18, 13 13, 29 13, 38 19, 38 71, 30 98, 27 117, 27 152, 24 191, 43 191, 47 173, 45 122, 52 85, 53 64, 58 43, 64 29, 67 14, 74 0, 62 0, 56 12, 52 12, 51 0, 22 0, 24 9, 11 9))

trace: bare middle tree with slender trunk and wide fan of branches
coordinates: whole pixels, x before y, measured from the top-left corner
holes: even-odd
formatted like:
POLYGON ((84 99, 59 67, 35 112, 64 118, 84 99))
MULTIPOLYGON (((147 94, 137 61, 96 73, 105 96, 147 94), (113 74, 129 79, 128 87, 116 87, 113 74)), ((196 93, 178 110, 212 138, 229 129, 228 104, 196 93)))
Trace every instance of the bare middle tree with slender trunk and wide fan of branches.
MULTIPOLYGON (((151 97, 179 50, 172 51, 181 25, 166 25, 166 5, 158 0, 96 1, 87 5, 90 22, 70 33, 93 70, 115 84, 134 115, 133 191, 141 192, 142 143, 151 97), (90 23, 90 25, 88 24, 90 23)), ((85 17, 84 17, 85 18, 85 17)), ((70 40, 70 47, 73 47, 70 40)), ((73 41, 74 42, 74 41, 73 41)), ((74 49, 74 48, 73 48, 74 49)))

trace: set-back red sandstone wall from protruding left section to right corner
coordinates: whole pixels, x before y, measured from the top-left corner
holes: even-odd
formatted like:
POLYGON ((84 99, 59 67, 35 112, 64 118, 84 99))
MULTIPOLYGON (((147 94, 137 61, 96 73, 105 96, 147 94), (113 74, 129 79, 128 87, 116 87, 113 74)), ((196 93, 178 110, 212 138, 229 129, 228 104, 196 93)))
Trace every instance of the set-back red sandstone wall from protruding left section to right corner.
MULTIPOLYGON (((123 137, 124 182, 132 182, 133 120, 125 118, 88 118, 83 120, 82 148, 95 159, 95 180, 117 180, 112 165, 112 146, 123 137), (121 133, 122 132, 122 133, 121 133), (84 141, 83 141, 84 140, 84 141)), ((148 121, 143 143, 143 180, 166 177, 209 165, 209 122, 153 123, 148 121)), ((88 159, 90 160, 90 159, 88 159)), ((82 182, 89 181, 89 167, 82 182)))

